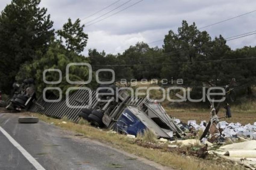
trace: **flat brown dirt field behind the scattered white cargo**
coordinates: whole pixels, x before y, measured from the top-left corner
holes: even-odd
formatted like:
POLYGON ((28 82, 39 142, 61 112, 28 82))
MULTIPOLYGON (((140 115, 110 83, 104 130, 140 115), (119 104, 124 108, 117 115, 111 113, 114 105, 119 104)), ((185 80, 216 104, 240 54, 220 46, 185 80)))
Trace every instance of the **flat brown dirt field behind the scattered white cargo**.
MULTIPOLYGON (((167 113, 177 119, 180 119, 183 123, 187 123, 188 120, 196 120, 197 124, 200 124, 201 120, 210 120, 210 109, 209 110, 198 110, 198 109, 172 109, 165 108, 167 113)), ((232 111, 231 118, 222 118, 222 120, 226 120, 226 122, 233 123, 241 123, 242 125, 256 122, 256 111, 232 111)), ((219 111, 218 116, 225 116, 225 109, 221 109, 219 111)))

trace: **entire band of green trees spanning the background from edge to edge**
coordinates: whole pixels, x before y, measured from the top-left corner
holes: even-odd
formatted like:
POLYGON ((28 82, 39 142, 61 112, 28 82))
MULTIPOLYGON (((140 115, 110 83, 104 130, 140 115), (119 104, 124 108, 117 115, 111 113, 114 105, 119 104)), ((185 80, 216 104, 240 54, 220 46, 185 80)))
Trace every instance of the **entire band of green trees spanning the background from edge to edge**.
MULTIPOLYGON (((115 80, 183 79, 183 86, 224 86, 236 78, 236 86, 243 94, 251 94, 255 85, 256 48, 242 47, 232 50, 225 38, 211 38, 206 31, 199 31, 195 23, 182 21, 177 33, 170 30, 164 35, 162 47, 149 47, 145 42, 131 45, 123 53, 106 54, 89 49, 83 56, 88 35, 80 20, 68 19, 60 30, 54 30, 53 21, 46 8, 39 8, 40 0, 12 0, 0 14, 0 89, 10 94, 12 83, 33 77, 36 90, 42 93, 46 85, 43 71, 58 68, 63 80, 58 87, 70 87, 65 80, 65 68, 70 62, 89 62, 93 71, 110 68, 115 80)), ((86 67, 71 67, 73 81, 87 80, 86 67)), ((93 76, 94 77, 94 76, 93 76)), ((102 80, 111 79, 109 72, 102 72, 102 80)), ((58 80, 56 72, 48 72, 48 81, 58 80)), ((174 81, 174 85, 175 85, 174 81)), ((167 84, 167 85, 168 85, 167 84)), ((95 87, 92 83, 87 85, 95 87)), ((196 94, 196 88, 193 89, 196 94)))

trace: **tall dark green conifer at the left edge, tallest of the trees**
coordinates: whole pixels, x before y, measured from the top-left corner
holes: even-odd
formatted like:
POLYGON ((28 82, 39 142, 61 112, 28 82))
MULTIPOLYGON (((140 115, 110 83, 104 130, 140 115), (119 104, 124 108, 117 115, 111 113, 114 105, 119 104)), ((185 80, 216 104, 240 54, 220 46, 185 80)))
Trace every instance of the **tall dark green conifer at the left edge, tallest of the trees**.
POLYGON ((45 53, 53 22, 40 0, 12 0, 0 15, 0 89, 9 93, 20 65, 45 53))

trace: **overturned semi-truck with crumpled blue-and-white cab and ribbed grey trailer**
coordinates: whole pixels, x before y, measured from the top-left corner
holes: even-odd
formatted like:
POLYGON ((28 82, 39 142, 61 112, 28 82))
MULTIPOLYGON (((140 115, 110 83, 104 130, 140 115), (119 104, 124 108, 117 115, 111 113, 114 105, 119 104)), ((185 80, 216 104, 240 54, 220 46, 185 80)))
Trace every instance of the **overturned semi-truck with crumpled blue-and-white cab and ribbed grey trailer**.
POLYGON ((181 138, 184 134, 159 103, 150 102, 148 98, 132 97, 115 85, 98 92, 79 89, 68 99, 60 101, 55 100, 58 97, 53 94, 46 98, 45 101, 39 97, 37 104, 32 105, 29 111, 55 118, 65 116, 75 122, 83 118, 96 126, 135 136, 145 129, 150 129, 159 138, 181 138), (108 95, 109 88, 116 94, 108 95))

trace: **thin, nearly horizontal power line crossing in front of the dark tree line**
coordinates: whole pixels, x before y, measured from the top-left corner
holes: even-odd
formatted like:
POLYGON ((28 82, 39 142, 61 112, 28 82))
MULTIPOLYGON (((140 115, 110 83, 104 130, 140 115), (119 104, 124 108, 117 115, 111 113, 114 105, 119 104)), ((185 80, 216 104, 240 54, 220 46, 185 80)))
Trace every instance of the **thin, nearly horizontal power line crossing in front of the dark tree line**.
MULTIPOLYGON (((221 61, 232 61, 232 60, 244 60, 244 59, 256 59, 256 57, 247 58, 234 58, 234 59, 218 59, 218 60, 203 60, 193 62, 171 62, 171 63, 152 63, 152 64, 140 64, 140 65, 170 65, 170 64, 184 64, 184 63, 199 63, 199 62, 221 62, 221 61)), ((138 64, 120 64, 120 65, 92 65, 92 66, 104 66, 104 67, 119 67, 119 66, 135 66, 138 64)))

